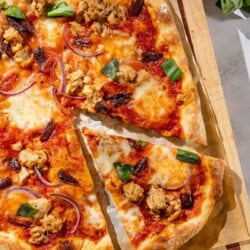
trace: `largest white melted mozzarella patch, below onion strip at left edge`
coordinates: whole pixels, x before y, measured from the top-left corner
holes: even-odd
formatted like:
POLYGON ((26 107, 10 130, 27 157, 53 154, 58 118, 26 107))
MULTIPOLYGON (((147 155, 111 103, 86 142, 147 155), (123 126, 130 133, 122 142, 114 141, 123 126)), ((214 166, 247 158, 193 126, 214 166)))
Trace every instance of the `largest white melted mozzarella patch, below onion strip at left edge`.
POLYGON ((23 94, 10 97, 9 107, 4 110, 10 123, 24 130, 46 125, 57 110, 56 104, 46 96, 49 90, 32 87, 23 94))

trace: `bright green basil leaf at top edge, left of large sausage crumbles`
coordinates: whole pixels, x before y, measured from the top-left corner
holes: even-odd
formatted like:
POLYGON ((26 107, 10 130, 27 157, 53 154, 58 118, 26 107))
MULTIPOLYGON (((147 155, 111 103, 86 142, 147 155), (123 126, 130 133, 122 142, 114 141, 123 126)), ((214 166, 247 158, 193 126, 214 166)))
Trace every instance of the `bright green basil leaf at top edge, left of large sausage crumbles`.
POLYGON ((65 17, 74 15, 74 6, 67 5, 66 2, 60 2, 50 6, 46 11, 47 17, 65 17))

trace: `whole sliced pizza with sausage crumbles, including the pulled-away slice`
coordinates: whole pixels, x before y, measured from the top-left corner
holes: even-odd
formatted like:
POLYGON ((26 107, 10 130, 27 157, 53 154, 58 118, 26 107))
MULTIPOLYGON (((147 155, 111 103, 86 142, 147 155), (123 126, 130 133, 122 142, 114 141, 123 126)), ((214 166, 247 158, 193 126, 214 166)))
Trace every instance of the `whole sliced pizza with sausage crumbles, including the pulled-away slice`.
POLYGON ((0 0, 1 250, 177 249, 203 228, 222 160, 89 128, 82 141, 76 110, 207 144, 167 1, 0 0))

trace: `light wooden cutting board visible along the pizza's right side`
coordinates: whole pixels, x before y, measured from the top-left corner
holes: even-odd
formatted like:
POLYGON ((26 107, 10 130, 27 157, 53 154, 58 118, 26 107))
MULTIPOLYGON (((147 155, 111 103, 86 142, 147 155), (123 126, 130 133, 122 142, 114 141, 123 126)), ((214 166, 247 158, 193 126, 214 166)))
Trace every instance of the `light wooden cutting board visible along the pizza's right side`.
MULTIPOLYGON (((225 218, 224 222, 220 224, 220 228, 214 228, 214 231, 217 230, 216 236, 210 235, 213 230, 208 226, 201 234, 185 245, 183 249, 194 250, 214 247, 225 249, 226 246, 227 249, 231 249, 231 247, 232 249, 240 249, 235 248, 238 245, 241 245, 241 249, 250 249, 250 207, 248 195, 226 107, 203 2, 202 0, 170 0, 170 2, 174 6, 174 9, 179 12, 177 15, 181 18, 188 42, 198 65, 201 88, 204 91, 204 96, 201 97, 201 99, 204 99, 204 97, 205 99, 207 98, 207 103, 202 104, 203 112, 209 105, 211 108, 210 111, 214 116, 218 136, 212 136, 213 138, 210 139, 210 150, 211 144, 213 144, 220 149, 220 151, 223 151, 215 156, 224 158, 228 164, 228 169, 225 171, 224 182, 227 184, 224 185, 224 199, 230 200, 229 203, 231 203, 227 207, 228 211, 220 211, 221 214, 225 212, 226 216, 223 214, 225 218), (232 185, 228 184, 229 182, 232 182, 232 185), (230 195, 231 198, 229 198, 230 195), (210 241, 209 244, 204 244, 206 241, 210 241), (232 243, 237 244, 228 247, 228 245, 232 243)), ((206 112, 207 111, 205 111, 205 113, 206 112)), ((206 121, 205 115, 205 123, 206 121)), ((211 124, 207 124, 206 129, 208 136, 210 133, 214 133, 211 132, 211 127, 211 124)), ((204 149, 204 151, 206 152, 206 149, 204 149)), ((219 217, 215 218, 218 219, 219 217)))

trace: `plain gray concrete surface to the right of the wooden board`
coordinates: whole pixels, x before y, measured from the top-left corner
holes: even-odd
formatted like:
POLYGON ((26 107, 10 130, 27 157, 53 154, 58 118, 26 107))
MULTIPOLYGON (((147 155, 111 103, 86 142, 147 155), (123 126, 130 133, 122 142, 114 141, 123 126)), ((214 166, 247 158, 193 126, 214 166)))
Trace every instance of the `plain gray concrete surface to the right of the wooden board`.
POLYGON ((250 197, 250 79, 238 35, 240 30, 250 39, 250 16, 247 20, 224 17, 215 0, 203 2, 250 197))

